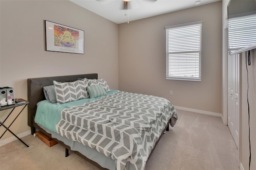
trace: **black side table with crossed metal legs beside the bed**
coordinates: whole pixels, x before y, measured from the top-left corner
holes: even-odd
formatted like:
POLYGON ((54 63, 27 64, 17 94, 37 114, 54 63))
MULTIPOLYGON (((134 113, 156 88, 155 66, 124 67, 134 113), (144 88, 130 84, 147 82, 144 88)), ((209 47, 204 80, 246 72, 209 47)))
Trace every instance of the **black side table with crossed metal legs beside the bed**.
POLYGON ((0 136, 0 139, 2 138, 2 136, 4 136, 4 134, 7 132, 7 130, 13 134, 18 140, 20 140, 20 142, 22 142, 24 145, 26 145, 27 147, 29 147, 25 142, 23 142, 16 134, 14 134, 14 132, 12 132, 9 128, 10 126, 14 123, 14 121, 17 119, 17 117, 20 115, 20 113, 22 113, 22 111, 25 109, 25 107, 28 105, 29 101, 26 101, 24 99, 18 99, 20 102, 24 102, 24 103, 21 103, 21 104, 17 104, 15 103, 14 105, 6 105, 6 106, 2 106, 0 108, 0 111, 3 111, 3 110, 6 110, 6 109, 12 109, 12 111, 9 113, 9 115, 6 117, 6 119, 4 119, 3 122, 0 121, 0 127, 3 126, 4 128, 6 128, 6 130, 4 131, 4 133, 0 136), (4 122, 8 119, 8 117, 12 114, 12 112, 14 111, 14 109, 16 107, 19 107, 19 106, 24 106, 23 109, 20 111, 20 113, 18 113, 18 115, 15 117, 15 119, 12 121, 12 123, 6 127, 6 125, 4 125, 4 122))

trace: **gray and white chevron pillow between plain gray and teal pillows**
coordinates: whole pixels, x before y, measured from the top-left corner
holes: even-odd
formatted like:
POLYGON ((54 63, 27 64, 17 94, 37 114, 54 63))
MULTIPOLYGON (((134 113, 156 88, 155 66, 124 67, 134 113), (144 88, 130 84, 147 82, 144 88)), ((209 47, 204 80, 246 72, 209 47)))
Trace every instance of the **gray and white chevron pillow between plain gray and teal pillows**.
POLYGON ((65 83, 53 81, 53 85, 56 92, 57 103, 62 104, 89 97, 89 93, 86 89, 88 84, 85 81, 73 81, 65 83))

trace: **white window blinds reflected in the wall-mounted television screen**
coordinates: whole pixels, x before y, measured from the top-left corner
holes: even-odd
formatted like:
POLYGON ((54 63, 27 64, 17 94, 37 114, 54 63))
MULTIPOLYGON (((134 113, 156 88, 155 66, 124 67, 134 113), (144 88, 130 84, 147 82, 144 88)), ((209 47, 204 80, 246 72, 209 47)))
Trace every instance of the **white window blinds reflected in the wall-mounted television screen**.
POLYGON ((256 14, 228 20, 229 53, 256 43, 256 14))

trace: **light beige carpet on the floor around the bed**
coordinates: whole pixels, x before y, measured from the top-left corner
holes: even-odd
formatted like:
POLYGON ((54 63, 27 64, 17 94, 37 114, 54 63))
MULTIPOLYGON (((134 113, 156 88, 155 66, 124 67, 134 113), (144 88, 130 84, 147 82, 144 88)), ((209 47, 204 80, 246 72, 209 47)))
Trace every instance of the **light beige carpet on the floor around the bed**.
MULTIPOLYGON (((239 170, 238 148, 220 117, 178 111, 178 122, 166 132, 146 170, 239 170)), ((60 144, 48 147, 32 135, 0 147, 1 170, 96 170, 74 152, 65 158, 60 144)))

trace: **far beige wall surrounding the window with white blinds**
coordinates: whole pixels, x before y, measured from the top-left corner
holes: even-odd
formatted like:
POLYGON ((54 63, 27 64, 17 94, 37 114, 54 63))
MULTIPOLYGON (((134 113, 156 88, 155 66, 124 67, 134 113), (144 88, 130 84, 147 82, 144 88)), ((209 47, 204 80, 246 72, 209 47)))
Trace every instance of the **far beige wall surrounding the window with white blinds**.
POLYGON ((221 113, 222 2, 118 25, 119 89, 221 113), (202 20, 202 81, 166 80, 166 26, 202 20), (169 91, 173 95, 169 95, 169 91))

